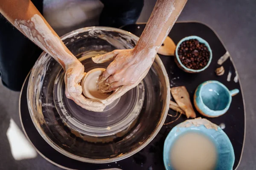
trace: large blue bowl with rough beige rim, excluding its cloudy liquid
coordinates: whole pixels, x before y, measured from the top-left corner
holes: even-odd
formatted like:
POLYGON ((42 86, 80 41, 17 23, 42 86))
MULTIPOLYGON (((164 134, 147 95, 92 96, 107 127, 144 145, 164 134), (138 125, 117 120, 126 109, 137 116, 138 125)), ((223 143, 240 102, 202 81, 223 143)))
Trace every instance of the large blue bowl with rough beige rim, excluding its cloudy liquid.
MULTIPOLYGON (((169 132, 163 147, 163 162, 166 170, 175 170, 169 158, 176 140, 185 133, 196 132, 207 136, 217 149, 217 162, 215 170, 233 170, 235 153, 230 139, 226 133, 218 126, 207 119, 189 119, 176 125, 169 132), (206 128, 206 126, 208 128, 206 128)), ((184 161, 185 162, 185 161, 184 161)))

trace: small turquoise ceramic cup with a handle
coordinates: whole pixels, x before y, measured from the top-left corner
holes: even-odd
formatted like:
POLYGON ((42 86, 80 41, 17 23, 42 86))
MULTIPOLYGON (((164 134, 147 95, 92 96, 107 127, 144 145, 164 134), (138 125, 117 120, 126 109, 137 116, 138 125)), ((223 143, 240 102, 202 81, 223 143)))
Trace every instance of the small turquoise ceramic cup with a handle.
POLYGON ((202 115, 218 117, 227 112, 232 96, 238 93, 238 89, 229 91, 221 82, 210 80, 203 82, 195 90, 194 105, 202 115))

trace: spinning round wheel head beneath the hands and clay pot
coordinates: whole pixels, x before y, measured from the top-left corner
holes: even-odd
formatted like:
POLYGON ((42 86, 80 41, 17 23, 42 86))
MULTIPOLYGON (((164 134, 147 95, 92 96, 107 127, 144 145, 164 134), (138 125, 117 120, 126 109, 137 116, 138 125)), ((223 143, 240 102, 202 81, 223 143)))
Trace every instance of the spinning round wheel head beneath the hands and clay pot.
MULTIPOLYGON (((84 65, 85 72, 93 68, 107 68, 110 62, 99 66, 91 57, 107 51, 90 51, 77 58, 84 65)), ((64 71, 57 75, 53 87, 55 107, 63 122, 73 130, 89 136, 111 136, 125 130, 139 115, 144 101, 144 83, 131 89, 108 105, 103 112, 93 112, 81 108, 65 96, 64 71)))

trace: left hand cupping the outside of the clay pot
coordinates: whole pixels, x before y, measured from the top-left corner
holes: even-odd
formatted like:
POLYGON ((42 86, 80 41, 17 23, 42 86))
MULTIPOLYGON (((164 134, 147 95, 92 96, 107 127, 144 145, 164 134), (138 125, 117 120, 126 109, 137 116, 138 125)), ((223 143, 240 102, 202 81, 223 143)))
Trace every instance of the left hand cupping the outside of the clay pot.
POLYGON ((105 105, 93 99, 87 99, 82 95, 82 87, 79 85, 84 77, 84 66, 78 60, 66 65, 65 73, 65 94, 67 98, 73 100, 77 105, 90 111, 103 111, 105 105))

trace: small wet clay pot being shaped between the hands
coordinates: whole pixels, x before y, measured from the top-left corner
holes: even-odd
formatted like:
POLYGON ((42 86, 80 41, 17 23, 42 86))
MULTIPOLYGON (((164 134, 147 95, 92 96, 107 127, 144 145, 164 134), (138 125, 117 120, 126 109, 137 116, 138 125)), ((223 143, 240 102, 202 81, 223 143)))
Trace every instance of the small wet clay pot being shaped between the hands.
POLYGON ((81 86, 85 97, 101 101, 103 100, 102 102, 104 102, 104 100, 111 95, 111 93, 102 94, 99 92, 98 80, 104 71, 105 68, 95 68, 85 74, 81 81, 81 86))

